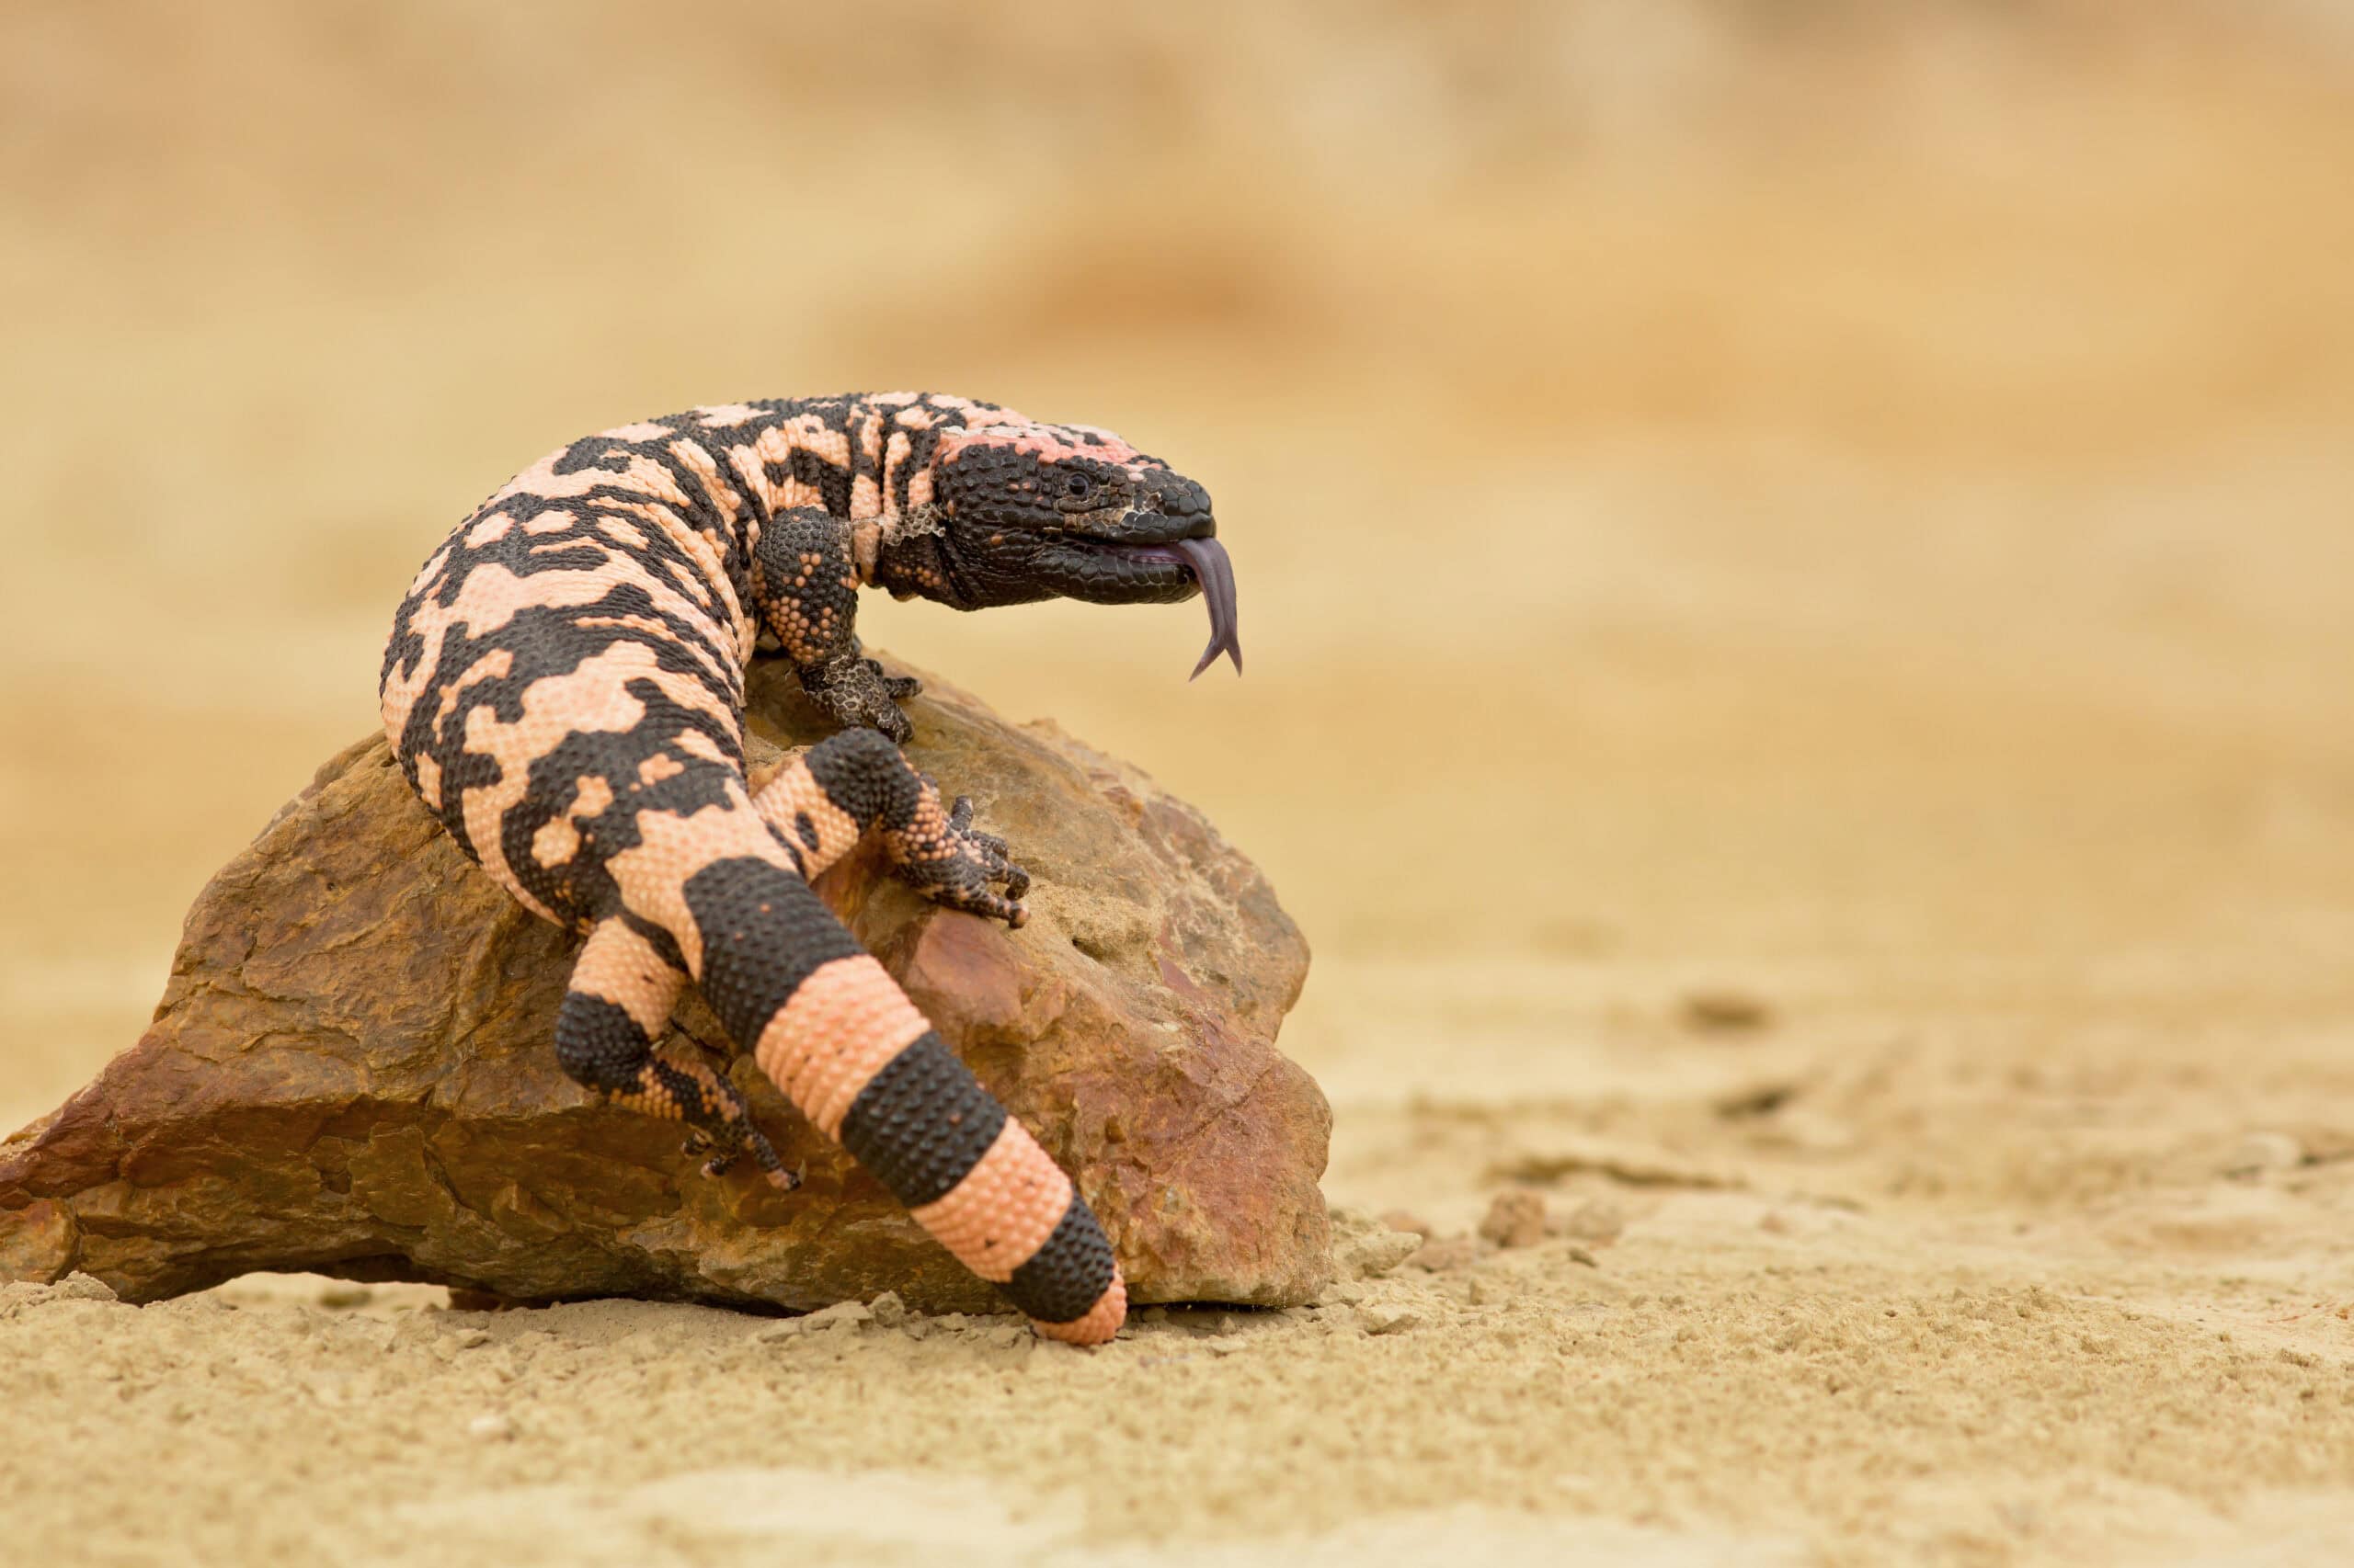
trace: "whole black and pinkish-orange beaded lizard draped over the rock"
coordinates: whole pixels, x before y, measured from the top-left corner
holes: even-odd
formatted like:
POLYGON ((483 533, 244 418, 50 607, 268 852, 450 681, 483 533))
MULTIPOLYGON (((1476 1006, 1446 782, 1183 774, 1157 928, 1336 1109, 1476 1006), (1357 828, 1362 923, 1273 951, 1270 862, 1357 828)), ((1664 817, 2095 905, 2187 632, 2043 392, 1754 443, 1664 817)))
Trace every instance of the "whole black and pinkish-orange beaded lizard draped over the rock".
POLYGON ((586 939, 563 1071, 687 1125, 711 1177, 798 1184, 725 1074, 657 1052, 697 984, 739 1050, 1040 1335, 1102 1344, 1128 1290, 1071 1177, 810 881, 866 833, 930 899, 1022 925, 1029 873, 902 753, 920 687, 859 589, 956 610, 1203 593, 1243 666, 1208 492, 1080 424, 937 393, 725 403, 574 440, 499 487, 395 612, 384 730, 506 892, 586 939), (744 680, 784 657, 843 725, 758 791, 744 680))

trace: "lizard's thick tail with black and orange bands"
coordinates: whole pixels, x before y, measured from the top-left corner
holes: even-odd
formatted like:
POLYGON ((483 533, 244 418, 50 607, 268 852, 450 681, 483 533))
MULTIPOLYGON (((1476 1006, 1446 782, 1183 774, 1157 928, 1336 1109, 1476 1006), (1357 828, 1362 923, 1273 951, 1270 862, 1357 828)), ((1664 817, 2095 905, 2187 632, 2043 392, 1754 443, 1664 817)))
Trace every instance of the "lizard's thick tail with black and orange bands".
POLYGON ((1102 1344, 1128 1316, 1104 1227, 800 876, 716 859, 680 888, 704 1001, 760 1071, 1038 1326, 1102 1344))

